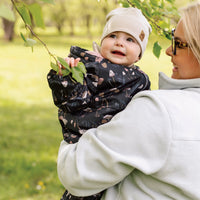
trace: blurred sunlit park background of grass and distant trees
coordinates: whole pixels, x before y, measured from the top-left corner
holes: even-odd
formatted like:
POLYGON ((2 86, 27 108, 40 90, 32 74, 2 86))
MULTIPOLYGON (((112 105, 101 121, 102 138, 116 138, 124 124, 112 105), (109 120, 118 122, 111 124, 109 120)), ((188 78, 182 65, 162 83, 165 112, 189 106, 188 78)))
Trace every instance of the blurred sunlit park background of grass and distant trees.
MULTIPOLYGON (((45 28, 34 24, 32 28, 61 57, 67 56, 71 45, 91 50, 92 41, 100 40, 106 14, 125 3, 124 0, 55 0, 54 4, 50 1, 25 0, 41 6, 45 28)), ((188 2, 176 0, 174 6, 180 8, 188 2)), ((0 200, 58 200, 64 191, 56 171, 62 134, 46 80, 51 58, 40 43, 33 52, 24 47, 20 33, 30 38, 32 35, 15 10, 14 17, 2 12, 5 6, 13 9, 11 1, 0 1, 0 200)), ((177 19, 170 17, 171 26, 175 26, 177 19)), ((165 55, 170 44, 170 40, 154 31, 143 58, 137 63, 149 75, 152 89, 158 88, 159 71, 171 74, 170 58, 165 55), (155 41, 163 47, 159 59, 152 53, 155 41)))

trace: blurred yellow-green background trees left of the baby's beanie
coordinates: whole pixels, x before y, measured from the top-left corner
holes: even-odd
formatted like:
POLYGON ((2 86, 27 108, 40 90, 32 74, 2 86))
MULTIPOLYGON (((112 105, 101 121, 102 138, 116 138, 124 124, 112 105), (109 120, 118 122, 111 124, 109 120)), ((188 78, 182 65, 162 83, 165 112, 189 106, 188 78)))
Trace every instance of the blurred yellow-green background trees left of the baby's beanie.
MULTIPOLYGON (((24 0, 20 2, 24 2, 27 5, 37 3, 42 7, 46 28, 53 27, 59 34, 64 34, 67 31, 70 36, 74 36, 76 34, 76 27, 79 27, 86 31, 85 34, 89 37, 92 35, 91 27, 96 26, 100 31, 104 26, 106 14, 119 6, 117 0, 109 0, 109 2, 105 0, 24 0)), ((13 9, 11 1, 1 0, 0 6, 2 5, 13 10, 15 15, 14 21, 9 21, 4 17, 1 18, 4 38, 5 40, 12 41, 18 27, 23 27, 24 24, 16 10, 13 9)), ((33 28, 34 26, 35 24, 33 24, 33 28)))

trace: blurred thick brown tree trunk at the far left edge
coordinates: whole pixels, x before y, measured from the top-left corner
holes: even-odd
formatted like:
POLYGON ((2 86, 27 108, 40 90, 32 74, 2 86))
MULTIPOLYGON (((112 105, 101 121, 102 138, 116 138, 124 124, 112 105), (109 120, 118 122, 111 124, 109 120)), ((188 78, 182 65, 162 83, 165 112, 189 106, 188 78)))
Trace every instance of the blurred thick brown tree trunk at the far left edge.
POLYGON ((12 41, 14 37, 15 22, 9 21, 5 18, 2 18, 2 22, 3 22, 5 40, 12 41))

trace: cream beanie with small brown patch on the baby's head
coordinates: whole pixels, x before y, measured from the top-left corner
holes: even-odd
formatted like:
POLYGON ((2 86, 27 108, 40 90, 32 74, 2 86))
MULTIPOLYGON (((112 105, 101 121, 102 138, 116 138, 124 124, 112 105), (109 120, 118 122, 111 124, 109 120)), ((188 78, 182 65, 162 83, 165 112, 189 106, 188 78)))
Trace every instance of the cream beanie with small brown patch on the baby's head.
POLYGON ((141 47, 142 57, 152 29, 142 12, 133 7, 117 8, 106 16, 106 25, 101 36, 102 40, 112 32, 122 31, 132 35, 141 47))

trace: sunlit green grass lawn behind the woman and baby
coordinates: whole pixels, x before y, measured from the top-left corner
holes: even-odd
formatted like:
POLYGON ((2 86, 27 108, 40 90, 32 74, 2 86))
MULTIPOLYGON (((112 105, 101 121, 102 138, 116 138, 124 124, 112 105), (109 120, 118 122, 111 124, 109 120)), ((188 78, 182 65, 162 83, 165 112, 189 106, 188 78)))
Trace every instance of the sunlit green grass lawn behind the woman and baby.
MULTIPOLYGON (((91 49, 86 37, 43 35, 52 53, 67 56, 69 45, 91 49)), ((93 38, 98 41, 98 37, 93 38)), ((152 43, 138 65, 157 88, 158 72, 170 74, 170 58, 158 60, 152 43)), ((161 41, 166 46, 165 41, 161 41)), ((57 178, 56 159, 61 128, 46 81, 50 59, 41 45, 0 39, 0 200, 56 200, 64 189, 57 178)))

